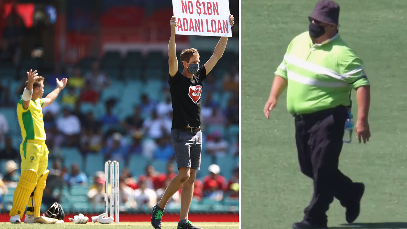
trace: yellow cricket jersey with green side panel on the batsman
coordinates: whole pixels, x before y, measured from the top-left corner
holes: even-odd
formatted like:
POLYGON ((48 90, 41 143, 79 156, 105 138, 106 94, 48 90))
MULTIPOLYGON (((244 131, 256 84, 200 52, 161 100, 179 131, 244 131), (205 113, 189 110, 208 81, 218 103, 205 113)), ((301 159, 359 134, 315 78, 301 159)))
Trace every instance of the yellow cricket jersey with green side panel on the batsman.
POLYGON ((42 99, 30 100, 27 109, 23 107, 23 100, 17 104, 18 123, 21 128, 23 143, 29 139, 45 141, 44 121, 42 120, 42 99))

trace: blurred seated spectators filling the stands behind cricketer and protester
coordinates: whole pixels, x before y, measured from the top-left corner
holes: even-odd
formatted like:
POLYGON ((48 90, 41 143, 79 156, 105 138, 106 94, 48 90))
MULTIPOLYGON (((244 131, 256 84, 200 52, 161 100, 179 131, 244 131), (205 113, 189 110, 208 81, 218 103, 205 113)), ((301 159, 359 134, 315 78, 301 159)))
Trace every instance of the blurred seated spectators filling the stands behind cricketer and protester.
MULTIPOLYGON (((67 155, 63 155, 62 148, 78 148, 83 158, 88 154, 103 155, 105 160, 116 160, 125 166, 129 166, 129 156, 141 155, 151 160, 168 161, 167 172, 155 171, 152 165, 146 165, 145 174, 134 174, 132 176, 128 169, 123 170, 120 177, 120 201, 130 208, 138 208, 143 205, 153 205, 164 193, 168 182, 175 176, 173 165, 174 151, 171 145, 171 121, 172 106, 169 93, 164 95, 162 101, 154 101, 149 95, 142 94, 140 103, 133 106, 133 114, 128 117, 119 118, 115 112, 118 98, 112 97, 101 100, 101 94, 105 87, 112 84, 111 79, 103 73, 98 61, 92 63, 89 73, 83 75, 81 68, 73 67, 70 74, 65 73, 59 66, 55 66, 55 72, 44 82, 49 88, 55 86, 55 78, 68 77, 68 87, 59 99, 43 109, 44 128, 47 135, 46 144, 49 150, 49 159, 54 161, 48 165, 50 175, 47 187, 44 190, 44 203, 53 203, 61 198, 64 185, 84 184, 89 185, 88 198, 96 206, 103 202, 104 174, 98 171, 93 176, 93 181, 81 172, 83 168, 77 164, 66 165, 63 163, 67 155), (91 108, 85 112, 81 106, 103 105, 102 114, 95 114, 91 108), (68 169, 68 167, 70 167, 68 169)), ((10 91, 1 85, 0 81, 0 104, 1 107, 15 107, 16 101, 24 89, 25 79, 15 91, 10 91), (14 93, 14 94, 12 94, 14 93), (16 97, 17 99, 13 99, 16 97)), ((163 82, 165 88, 165 81, 163 82)), ((206 97, 202 103, 202 119, 205 126, 237 125, 239 123, 238 103, 238 76, 237 70, 232 68, 223 76, 223 90, 233 93, 228 101, 228 106, 221 109, 219 102, 212 98, 217 90, 213 75, 209 75, 204 84, 206 97)), ((219 88, 219 86, 218 86, 219 88)), ((11 159, 4 165, 5 173, 1 175, 0 196, 7 194, 7 185, 13 186, 19 179, 18 162, 20 151, 13 144, 12 135, 8 134, 8 120, 0 109, 0 160, 11 159), (15 161, 17 163, 15 163, 15 161)), ((15 135, 14 135, 15 136, 15 135)), ((230 139, 219 130, 205 132, 206 148, 202 152, 208 156, 222 157, 225 155, 238 156, 239 148, 237 142, 230 144, 230 139), (208 134, 206 134, 208 133, 208 134)), ((15 141, 14 141, 15 142, 15 141)), ((84 165, 86 166, 86 165, 84 165)), ((207 166, 207 165, 206 165, 207 166)), ((209 166, 209 175, 202 181, 195 181, 194 198, 200 200, 208 197, 213 200, 221 200, 223 195, 237 197, 239 185, 238 170, 228 181, 219 174, 218 165, 209 166)), ((177 192, 171 202, 179 203, 177 192)), ((0 197, 1 198, 1 197, 0 197)), ((0 199, 1 203, 1 199, 0 199)), ((150 207, 151 207, 150 206, 150 207)))

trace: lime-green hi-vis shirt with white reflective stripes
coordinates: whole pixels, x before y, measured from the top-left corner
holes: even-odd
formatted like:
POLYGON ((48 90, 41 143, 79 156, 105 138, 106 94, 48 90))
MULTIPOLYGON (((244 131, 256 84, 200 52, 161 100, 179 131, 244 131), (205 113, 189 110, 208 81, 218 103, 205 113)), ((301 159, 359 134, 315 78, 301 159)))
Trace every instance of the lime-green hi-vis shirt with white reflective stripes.
POLYGON ((291 114, 350 106, 352 88, 369 85, 362 60, 338 34, 322 44, 313 44, 308 31, 298 35, 275 74, 288 81, 291 114))

